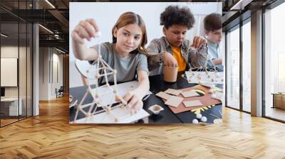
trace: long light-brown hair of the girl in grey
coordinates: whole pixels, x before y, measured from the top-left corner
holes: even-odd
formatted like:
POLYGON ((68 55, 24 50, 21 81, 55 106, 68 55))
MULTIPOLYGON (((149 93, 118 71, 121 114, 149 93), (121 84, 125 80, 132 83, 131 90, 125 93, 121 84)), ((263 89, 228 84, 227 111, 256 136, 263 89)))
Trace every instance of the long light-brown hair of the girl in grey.
POLYGON ((125 12, 118 18, 118 21, 115 23, 112 29, 113 43, 117 43, 117 38, 114 36, 115 28, 119 29, 123 26, 128 26, 129 24, 138 24, 140 29, 142 30, 142 39, 140 41, 140 45, 138 48, 133 50, 130 53, 142 53, 148 56, 147 50, 145 49, 145 45, 147 44, 147 30, 145 28, 145 22, 142 20, 142 17, 133 12, 125 12))

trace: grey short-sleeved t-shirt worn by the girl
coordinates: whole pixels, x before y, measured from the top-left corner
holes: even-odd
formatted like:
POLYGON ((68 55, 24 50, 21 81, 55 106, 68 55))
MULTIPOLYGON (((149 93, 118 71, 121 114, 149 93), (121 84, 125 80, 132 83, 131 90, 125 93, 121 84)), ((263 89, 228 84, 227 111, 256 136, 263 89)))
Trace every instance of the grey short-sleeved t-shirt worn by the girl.
MULTIPOLYGON (((99 44, 91 48, 99 53, 99 44)), ((131 53, 130 57, 125 59, 116 52, 115 43, 106 42, 100 44, 100 55, 110 67, 117 70, 117 82, 128 82, 135 79, 135 75, 139 70, 143 70, 148 74, 147 56, 142 53, 131 53)), ((89 62, 93 63, 93 61, 89 62)), ((113 75, 108 75, 108 82, 114 82, 113 75)), ((100 79, 100 83, 105 83, 105 79, 100 79)))

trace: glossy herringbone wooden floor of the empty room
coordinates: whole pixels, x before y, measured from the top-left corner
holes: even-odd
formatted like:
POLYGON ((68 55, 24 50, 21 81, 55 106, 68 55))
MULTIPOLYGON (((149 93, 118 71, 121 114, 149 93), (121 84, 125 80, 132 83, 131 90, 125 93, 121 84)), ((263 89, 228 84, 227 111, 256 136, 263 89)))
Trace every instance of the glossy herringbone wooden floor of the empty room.
POLYGON ((70 125, 68 98, 0 128, 0 158, 285 158, 285 124, 223 109, 222 125, 70 125))

